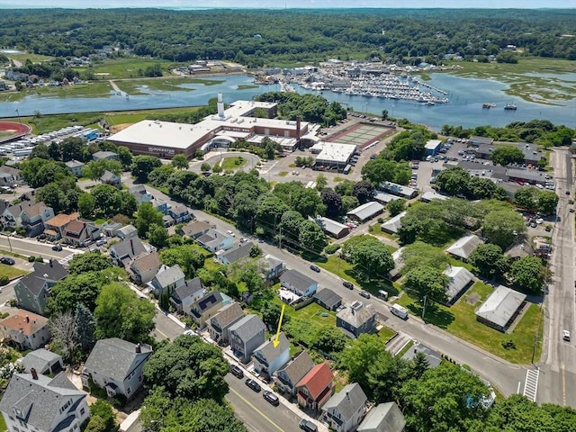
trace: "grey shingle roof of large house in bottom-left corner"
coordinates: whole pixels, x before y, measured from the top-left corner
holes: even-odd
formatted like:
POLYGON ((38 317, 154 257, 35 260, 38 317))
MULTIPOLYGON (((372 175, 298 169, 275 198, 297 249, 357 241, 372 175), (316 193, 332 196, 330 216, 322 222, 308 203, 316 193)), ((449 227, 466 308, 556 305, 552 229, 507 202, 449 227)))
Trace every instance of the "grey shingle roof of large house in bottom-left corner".
POLYGON ((51 430, 63 402, 69 397, 81 400, 85 396, 86 393, 77 390, 64 373, 53 379, 40 374, 37 380, 31 374, 14 374, 0 401, 0 410, 12 416, 13 408, 19 408, 27 413, 26 423, 29 426, 51 430))

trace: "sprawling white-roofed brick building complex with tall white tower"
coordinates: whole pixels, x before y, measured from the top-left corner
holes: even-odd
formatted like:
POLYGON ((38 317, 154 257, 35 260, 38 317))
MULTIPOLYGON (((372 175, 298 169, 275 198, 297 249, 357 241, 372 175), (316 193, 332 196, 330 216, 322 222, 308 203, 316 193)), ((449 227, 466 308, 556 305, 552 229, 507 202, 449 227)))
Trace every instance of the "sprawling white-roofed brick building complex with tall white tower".
POLYGON ((218 113, 196 124, 144 120, 108 138, 117 146, 124 146, 136 155, 162 158, 178 153, 193 157, 198 149, 228 147, 237 140, 257 141, 263 137, 279 141, 283 147, 294 145, 309 132, 306 121, 285 121, 250 117, 261 108, 268 117, 275 117, 277 103, 236 101, 224 110, 218 95, 218 113))

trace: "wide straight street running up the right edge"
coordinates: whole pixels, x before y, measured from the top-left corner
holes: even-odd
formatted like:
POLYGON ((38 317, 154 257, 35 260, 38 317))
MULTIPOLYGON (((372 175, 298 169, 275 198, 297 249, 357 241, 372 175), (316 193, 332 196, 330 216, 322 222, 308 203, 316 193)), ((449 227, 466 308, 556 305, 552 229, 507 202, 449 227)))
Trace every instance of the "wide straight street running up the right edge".
POLYGON ((545 343, 537 401, 576 407, 576 392, 573 391, 573 383, 576 383, 574 217, 569 211, 574 190, 570 150, 556 148, 551 153, 551 166, 560 200, 552 236, 552 282, 548 284, 545 300, 545 343), (571 331, 571 342, 563 340, 563 329, 571 331))

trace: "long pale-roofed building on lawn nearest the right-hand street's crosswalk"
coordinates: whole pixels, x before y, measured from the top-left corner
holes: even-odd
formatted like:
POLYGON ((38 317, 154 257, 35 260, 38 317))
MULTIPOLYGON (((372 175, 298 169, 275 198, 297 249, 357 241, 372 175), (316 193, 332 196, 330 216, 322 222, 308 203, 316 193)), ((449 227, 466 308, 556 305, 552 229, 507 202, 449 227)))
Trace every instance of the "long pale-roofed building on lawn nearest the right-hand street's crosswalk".
POLYGON ((526 304, 526 294, 499 285, 476 311, 476 320, 492 329, 506 331, 526 304))

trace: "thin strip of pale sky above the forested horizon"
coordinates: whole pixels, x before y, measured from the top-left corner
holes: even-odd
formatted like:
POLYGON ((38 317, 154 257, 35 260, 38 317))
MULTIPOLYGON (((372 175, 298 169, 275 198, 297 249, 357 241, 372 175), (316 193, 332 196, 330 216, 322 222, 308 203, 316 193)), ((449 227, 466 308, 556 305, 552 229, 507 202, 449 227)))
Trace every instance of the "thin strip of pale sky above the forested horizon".
POLYGON ((482 9, 537 9, 537 8, 576 8, 575 0, 278 0, 267 4, 262 0, 3 0, 4 8, 23 7, 69 7, 69 8, 110 8, 110 7, 169 7, 169 8, 482 8, 482 9))

